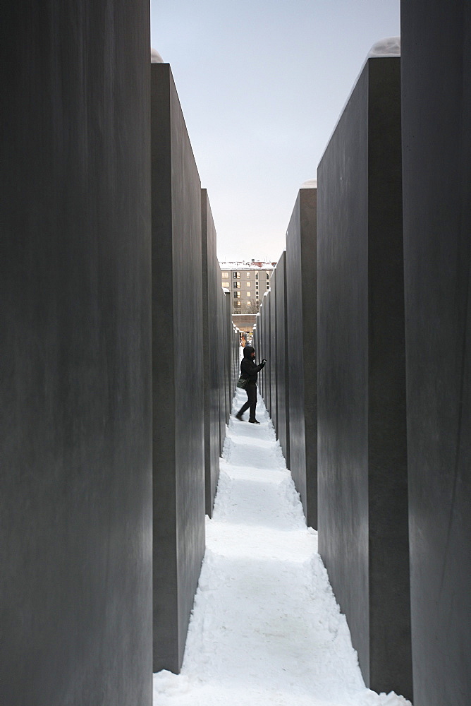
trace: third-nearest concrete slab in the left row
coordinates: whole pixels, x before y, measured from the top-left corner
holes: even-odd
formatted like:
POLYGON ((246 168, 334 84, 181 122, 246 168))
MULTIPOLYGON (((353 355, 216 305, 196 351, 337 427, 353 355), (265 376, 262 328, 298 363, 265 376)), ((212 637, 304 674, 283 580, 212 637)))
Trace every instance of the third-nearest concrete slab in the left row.
MULTIPOLYGON (((204 493, 206 514, 212 517, 214 496, 219 479, 219 381, 217 337, 219 335, 218 304, 221 296, 221 268, 216 256, 216 228, 206 189, 201 191, 203 325, 202 347, 196 347, 196 359, 203 368, 204 421, 204 493), (201 356, 201 358, 200 358, 201 356)), ((223 415, 221 415, 223 416, 223 415)), ((224 419, 224 417, 223 417, 224 419)))

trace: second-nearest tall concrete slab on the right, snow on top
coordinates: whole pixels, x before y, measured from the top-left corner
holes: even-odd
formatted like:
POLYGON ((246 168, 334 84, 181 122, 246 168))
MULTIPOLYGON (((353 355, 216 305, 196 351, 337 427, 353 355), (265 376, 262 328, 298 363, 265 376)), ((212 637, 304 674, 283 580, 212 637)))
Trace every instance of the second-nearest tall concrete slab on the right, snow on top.
POLYGON ((368 59, 318 170, 319 551, 365 682, 412 697, 400 59, 368 59))

